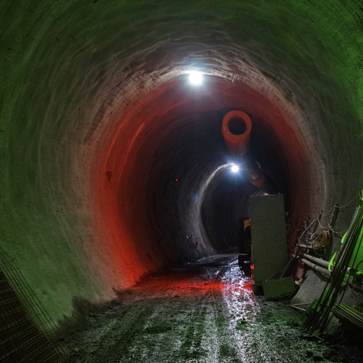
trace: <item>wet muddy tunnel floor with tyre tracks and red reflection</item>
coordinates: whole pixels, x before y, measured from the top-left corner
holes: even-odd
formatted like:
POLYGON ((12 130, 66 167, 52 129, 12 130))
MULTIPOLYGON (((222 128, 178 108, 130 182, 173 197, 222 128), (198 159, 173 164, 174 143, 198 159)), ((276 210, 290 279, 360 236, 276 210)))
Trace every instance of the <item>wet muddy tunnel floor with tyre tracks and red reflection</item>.
POLYGON ((140 282, 65 338, 69 362, 359 362, 301 337, 289 301, 252 293, 235 255, 140 282))

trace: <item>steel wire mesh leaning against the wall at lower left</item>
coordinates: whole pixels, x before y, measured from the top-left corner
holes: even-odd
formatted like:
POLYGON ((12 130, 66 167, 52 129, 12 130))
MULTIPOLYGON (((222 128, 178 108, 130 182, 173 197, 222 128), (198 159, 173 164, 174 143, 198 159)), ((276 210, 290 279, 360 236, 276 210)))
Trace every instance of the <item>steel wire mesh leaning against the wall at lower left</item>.
POLYGON ((60 333, 13 259, 0 249, 0 362, 61 363, 60 333))

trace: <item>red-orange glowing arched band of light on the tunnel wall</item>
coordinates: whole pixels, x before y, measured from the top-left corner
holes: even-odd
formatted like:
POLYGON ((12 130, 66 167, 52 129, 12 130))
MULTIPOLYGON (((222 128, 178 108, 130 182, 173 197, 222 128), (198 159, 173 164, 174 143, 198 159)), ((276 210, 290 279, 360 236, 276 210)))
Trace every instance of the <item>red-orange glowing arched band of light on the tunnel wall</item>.
MULTIPOLYGON (((286 169, 290 188, 295 189, 296 195, 301 193, 298 185, 309 188, 308 180, 301 183, 301 177, 308 175, 303 146, 291 128, 291 120, 284 117, 277 104, 241 82, 214 76, 205 78, 203 86, 192 90, 183 77, 170 79, 145 93, 123 113, 118 113, 117 102, 111 105, 114 116, 101 130, 108 147, 95 146, 94 150, 91 195, 94 223, 104 244, 102 250, 113 271, 125 277, 121 286, 133 284, 170 257, 152 241, 155 230, 147 216, 147 203, 150 203, 147 178, 152 171, 152 155, 158 145, 168 141, 170 124, 183 129, 184 125, 178 123, 179 114, 217 112, 223 108, 245 111, 257 130, 263 130, 272 140, 284 140, 273 145, 279 159, 303 171, 296 174, 286 169)), ((294 204, 294 195, 291 199, 294 204)))

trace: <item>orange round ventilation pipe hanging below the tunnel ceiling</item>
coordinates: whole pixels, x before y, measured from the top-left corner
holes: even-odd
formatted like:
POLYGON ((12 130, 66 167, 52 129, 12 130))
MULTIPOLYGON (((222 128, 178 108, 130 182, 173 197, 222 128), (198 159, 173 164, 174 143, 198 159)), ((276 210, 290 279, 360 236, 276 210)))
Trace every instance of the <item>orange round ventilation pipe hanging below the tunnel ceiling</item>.
POLYGON ((240 164, 245 177, 251 184, 267 194, 276 194, 277 187, 264 174, 250 153, 249 141, 251 130, 252 122, 250 116, 243 111, 230 111, 223 118, 223 138, 228 151, 233 156, 235 164, 240 164))

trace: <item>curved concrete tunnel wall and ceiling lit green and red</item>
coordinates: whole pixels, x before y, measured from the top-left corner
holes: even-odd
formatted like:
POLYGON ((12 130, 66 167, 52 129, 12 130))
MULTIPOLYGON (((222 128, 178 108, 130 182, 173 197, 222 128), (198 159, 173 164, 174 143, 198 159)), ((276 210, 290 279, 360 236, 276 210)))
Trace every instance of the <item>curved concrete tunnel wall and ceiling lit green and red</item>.
POLYGON ((230 111, 284 194, 286 253, 362 189, 362 1, 5 0, 0 14, 1 251, 56 325, 238 248, 264 191, 230 171, 230 111))

